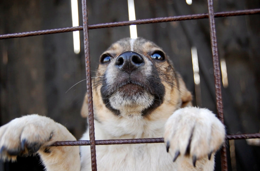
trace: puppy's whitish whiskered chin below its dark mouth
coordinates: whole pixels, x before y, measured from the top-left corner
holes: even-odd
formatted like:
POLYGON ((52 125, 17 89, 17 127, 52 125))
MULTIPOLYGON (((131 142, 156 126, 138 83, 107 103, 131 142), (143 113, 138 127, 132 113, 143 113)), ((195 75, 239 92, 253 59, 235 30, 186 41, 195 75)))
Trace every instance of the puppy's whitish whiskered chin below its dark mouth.
POLYGON ((141 115, 144 109, 149 108, 154 101, 154 96, 143 87, 127 84, 118 88, 109 98, 113 109, 119 110, 121 115, 141 115))

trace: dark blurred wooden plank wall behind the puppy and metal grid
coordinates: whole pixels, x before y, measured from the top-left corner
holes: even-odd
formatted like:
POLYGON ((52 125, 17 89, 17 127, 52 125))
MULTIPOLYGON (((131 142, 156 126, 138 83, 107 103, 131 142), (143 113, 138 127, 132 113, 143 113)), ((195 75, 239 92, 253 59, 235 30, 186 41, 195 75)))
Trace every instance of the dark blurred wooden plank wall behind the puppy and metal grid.
MULTIPOLYGON (((127 0, 88 0, 87 5, 89 24, 129 19, 127 0)), ((259 0, 214 0, 214 12, 256 8, 260 8, 259 0)), ((80 1, 78 10, 82 26, 80 1)), ((207 12, 206 0, 135 0, 136 19, 207 12)), ((216 18, 215 22, 227 133, 257 133, 260 17, 216 18)), ((71 26, 70 0, 0 0, 0 35, 71 26)), ((137 25, 137 31, 171 57, 194 96, 193 104, 216 113, 208 19, 137 25)), ((77 139, 81 137, 86 130, 86 120, 80 116, 86 81, 78 83, 86 79, 83 31, 79 36, 80 51, 74 50, 72 32, 0 40, 1 125, 38 113, 66 126, 77 139)), ((129 36, 129 26, 89 30, 92 70, 111 43, 129 36)), ((260 170, 260 147, 249 146, 246 140, 226 141, 226 146, 229 170, 260 170)), ((38 160, 36 156, 0 162, 0 171, 43 170, 38 160)), ((220 170, 219 153, 216 170, 220 170)))

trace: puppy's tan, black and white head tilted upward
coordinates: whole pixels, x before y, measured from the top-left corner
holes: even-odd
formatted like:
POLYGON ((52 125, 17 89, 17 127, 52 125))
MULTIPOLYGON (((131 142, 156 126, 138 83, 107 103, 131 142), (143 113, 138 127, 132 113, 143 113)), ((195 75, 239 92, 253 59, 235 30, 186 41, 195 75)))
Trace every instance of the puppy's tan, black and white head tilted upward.
MULTIPOLYGON (((168 118, 192 100, 165 52, 143 38, 112 44, 99 59, 92 88, 95 118, 101 122, 109 115, 168 118)), ((81 114, 88 115, 86 100, 81 114)))

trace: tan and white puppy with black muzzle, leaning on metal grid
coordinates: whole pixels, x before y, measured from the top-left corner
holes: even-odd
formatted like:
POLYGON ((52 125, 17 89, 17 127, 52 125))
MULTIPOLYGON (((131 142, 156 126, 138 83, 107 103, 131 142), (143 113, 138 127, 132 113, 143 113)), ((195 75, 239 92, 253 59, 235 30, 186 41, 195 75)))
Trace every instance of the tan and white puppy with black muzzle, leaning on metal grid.
MULTIPOLYGON (((164 137, 165 142, 98 145, 97 170, 214 170, 225 127, 208 109, 192 107, 192 94, 155 43, 125 38, 112 44, 92 83, 96 140, 164 137)), ((81 115, 88 117, 87 97, 81 115)), ((76 138, 48 117, 16 118, 0 128, 0 137, 4 160, 38 153, 47 170, 91 170, 89 146, 50 147, 76 138)), ((81 140, 89 140, 88 131, 81 140)))

